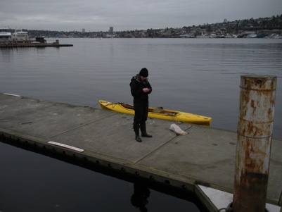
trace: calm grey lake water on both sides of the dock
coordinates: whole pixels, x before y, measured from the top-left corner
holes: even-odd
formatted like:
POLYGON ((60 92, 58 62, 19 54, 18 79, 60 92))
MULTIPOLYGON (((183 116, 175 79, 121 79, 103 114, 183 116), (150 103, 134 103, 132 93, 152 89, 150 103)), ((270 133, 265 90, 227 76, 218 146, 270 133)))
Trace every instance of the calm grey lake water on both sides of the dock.
MULTIPOLYGON (((96 108, 99 99, 131 104, 130 79, 146 67, 153 87, 150 106, 211 116, 212 127, 236 130, 241 75, 276 75, 274 137, 282 137, 282 39, 60 39, 60 43, 74 46, 0 49, 0 92, 96 108)), ((0 169, 6 173, 0 175, 0 187, 6 188, 0 192, 3 212, 30 204, 53 206, 56 211, 139 211, 130 204, 132 183, 1 142, 0 169)), ((147 208, 199 211, 190 201, 153 189, 147 208)))

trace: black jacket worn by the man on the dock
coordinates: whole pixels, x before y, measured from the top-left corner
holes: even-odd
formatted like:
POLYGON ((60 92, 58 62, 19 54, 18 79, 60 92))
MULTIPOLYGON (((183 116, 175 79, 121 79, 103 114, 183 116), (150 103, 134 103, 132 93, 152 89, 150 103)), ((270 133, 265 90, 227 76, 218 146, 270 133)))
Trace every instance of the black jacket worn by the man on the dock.
POLYGON ((132 96, 134 97, 134 104, 147 104, 148 94, 152 92, 152 87, 148 80, 141 80, 139 75, 132 77, 132 82, 130 82, 130 88, 132 96), (149 88, 150 92, 144 93, 143 88, 149 88))

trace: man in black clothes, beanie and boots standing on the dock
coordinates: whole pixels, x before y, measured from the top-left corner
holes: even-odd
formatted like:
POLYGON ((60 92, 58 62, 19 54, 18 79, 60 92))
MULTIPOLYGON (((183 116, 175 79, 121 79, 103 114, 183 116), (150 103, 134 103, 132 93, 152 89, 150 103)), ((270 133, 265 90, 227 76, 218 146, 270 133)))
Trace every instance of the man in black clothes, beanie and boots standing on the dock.
POLYGON ((148 117, 149 96, 152 92, 152 87, 148 81, 148 69, 142 68, 136 76, 132 77, 130 88, 134 105, 134 123, 133 128, 135 132, 135 139, 137 142, 142 142, 139 136, 139 128, 141 129, 142 137, 152 137, 146 132, 146 120, 148 117))

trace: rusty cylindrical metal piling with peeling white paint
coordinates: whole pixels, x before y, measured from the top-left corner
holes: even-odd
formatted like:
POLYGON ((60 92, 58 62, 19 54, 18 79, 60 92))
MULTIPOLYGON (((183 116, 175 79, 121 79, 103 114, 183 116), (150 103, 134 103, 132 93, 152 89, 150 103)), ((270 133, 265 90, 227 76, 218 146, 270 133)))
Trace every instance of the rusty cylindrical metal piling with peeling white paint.
POLYGON ((242 75, 238 118, 234 212, 265 211, 276 76, 242 75))

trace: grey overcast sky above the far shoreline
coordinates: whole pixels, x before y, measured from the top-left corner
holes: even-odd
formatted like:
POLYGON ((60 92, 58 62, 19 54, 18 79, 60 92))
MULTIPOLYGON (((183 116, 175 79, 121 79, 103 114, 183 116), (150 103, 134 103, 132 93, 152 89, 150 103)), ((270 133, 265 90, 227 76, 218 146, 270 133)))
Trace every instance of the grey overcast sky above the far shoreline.
POLYGON ((282 14, 282 0, 0 0, 0 27, 147 30, 282 14))

